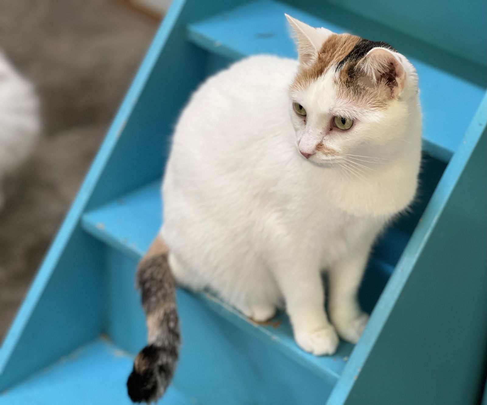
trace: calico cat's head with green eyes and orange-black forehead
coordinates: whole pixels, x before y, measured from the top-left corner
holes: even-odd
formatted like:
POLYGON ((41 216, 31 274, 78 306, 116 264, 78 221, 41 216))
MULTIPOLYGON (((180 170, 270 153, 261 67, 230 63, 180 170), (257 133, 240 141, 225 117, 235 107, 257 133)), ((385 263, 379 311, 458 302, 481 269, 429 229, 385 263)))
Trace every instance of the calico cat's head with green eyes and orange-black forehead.
POLYGON ((400 139, 407 136, 402 129, 411 119, 410 106, 417 106, 411 63, 385 42, 337 35, 286 17, 300 62, 289 108, 301 155, 318 165, 393 158, 402 141, 408 142, 400 139))

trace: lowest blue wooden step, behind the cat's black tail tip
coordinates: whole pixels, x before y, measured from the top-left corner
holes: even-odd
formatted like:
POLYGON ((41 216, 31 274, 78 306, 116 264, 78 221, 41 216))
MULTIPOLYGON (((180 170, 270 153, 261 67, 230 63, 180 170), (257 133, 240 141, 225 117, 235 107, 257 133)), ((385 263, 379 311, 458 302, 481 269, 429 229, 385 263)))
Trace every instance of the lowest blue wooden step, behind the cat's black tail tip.
MULTIPOLYGON (((0 405, 132 404, 125 381, 133 358, 102 338, 81 346, 52 366, 0 394, 0 405)), ((160 405, 198 405, 169 387, 160 405)))

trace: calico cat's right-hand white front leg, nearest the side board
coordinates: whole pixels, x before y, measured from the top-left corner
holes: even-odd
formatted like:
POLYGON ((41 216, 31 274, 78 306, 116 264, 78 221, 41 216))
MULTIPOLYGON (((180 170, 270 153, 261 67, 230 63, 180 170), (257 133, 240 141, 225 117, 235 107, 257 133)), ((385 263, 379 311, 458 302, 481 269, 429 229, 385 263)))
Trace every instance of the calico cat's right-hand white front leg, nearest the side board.
POLYGON ((328 273, 328 312, 343 340, 357 343, 369 316, 360 308, 357 299, 370 246, 361 247, 330 266, 328 273))

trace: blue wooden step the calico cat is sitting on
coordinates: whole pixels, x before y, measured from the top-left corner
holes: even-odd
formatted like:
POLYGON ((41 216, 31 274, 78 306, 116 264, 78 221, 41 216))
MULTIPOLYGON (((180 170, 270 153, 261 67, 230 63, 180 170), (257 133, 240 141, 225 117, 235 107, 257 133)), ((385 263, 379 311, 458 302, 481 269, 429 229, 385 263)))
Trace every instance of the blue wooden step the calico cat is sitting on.
MULTIPOLYGON (((149 247, 160 224, 160 181, 117 198, 82 217, 82 227, 86 231, 136 260, 149 247)), ((387 273, 387 269, 384 273, 387 273)), ((303 352, 296 345, 285 314, 279 313, 270 322, 257 324, 211 293, 198 296, 211 310, 245 332, 265 340, 330 384, 335 384, 340 377, 354 347, 341 342, 334 356, 316 357, 303 352)))

